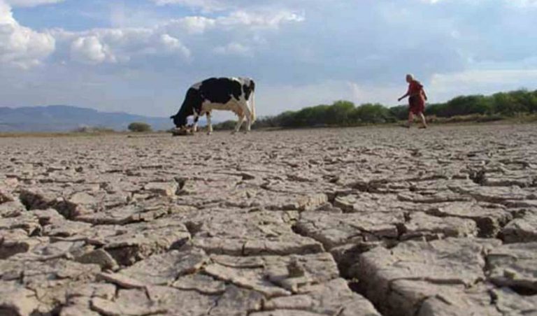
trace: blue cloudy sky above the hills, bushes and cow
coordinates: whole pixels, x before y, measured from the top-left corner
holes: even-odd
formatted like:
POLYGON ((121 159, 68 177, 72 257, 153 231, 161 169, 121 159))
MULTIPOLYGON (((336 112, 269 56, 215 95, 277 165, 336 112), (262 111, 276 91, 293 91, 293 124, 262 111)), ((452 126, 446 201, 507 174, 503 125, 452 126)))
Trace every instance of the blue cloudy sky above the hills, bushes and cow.
POLYGON ((259 115, 393 106, 408 72, 430 101, 537 89, 536 29, 537 0, 0 0, 0 106, 168 116, 210 76, 255 78, 259 115))

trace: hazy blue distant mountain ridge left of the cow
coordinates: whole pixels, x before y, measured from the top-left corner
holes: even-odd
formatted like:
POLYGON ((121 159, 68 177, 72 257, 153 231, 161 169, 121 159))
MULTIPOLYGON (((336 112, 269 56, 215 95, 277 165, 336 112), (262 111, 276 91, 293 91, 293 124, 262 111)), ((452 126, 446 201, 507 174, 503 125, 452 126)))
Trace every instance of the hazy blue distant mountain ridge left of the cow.
POLYGON ((145 122, 155 131, 173 127, 173 122, 168 117, 106 113, 76 106, 0 107, 0 131, 73 131, 81 127, 106 127, 124 131, 132 122, 145 122))

